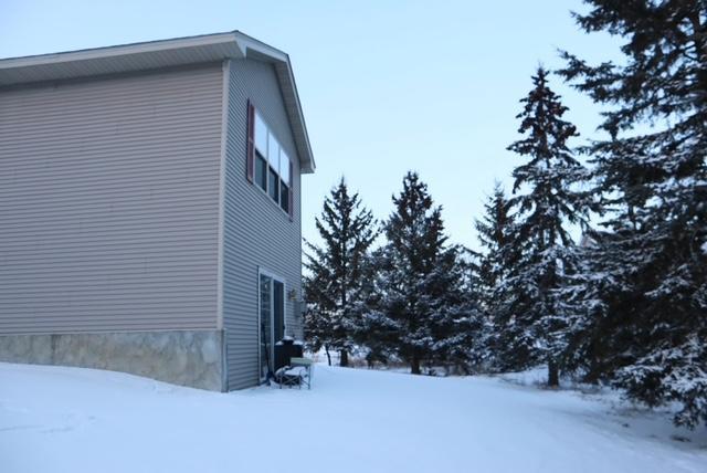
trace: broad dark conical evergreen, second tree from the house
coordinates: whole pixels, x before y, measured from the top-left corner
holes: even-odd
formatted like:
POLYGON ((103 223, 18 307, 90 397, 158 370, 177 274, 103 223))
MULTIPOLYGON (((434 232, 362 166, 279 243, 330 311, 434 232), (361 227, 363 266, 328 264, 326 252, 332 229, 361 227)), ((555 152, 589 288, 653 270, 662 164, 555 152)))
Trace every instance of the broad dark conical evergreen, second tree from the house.
POLYGON ((369 317, 411 372, 423 364, 466 366, 476 312, 464 288, 461 250, 447 244, 442 209, 414 172, 393 196, 384 224, 387 244, 377 257, 379 302, 369 317))

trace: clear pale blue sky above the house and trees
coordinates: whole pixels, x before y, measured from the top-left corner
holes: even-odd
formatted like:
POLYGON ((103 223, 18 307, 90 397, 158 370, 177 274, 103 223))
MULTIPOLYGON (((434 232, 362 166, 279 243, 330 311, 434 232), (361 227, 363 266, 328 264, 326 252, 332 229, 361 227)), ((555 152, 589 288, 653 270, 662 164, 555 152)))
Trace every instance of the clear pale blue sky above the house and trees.
MULTIPOLYGON (((0 57, 240 30, 287 52, 317 170, 303 176, 303 235, 344 176, 379 220, 409 170, 420 174, 452 242, 478 249, 474 219, 524 159, 518 101, 559 49, 591 62, 620 43, 579 30, 579 0, 0 0, 0 57)), ((580 138, 600 109, 552 77, 580 138)))

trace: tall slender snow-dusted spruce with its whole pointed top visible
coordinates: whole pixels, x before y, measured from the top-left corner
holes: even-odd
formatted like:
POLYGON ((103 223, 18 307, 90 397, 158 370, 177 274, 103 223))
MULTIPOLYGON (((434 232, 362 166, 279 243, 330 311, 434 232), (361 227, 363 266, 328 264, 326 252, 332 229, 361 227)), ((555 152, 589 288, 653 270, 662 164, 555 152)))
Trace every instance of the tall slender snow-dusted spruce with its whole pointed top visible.
POLYGON ((566 225, 582 223, 590 202, 577 190, 587 171, 567 144, 578 135, 574 126, 562 119, 567 107, 549 88, 542 67, 532 83, 517 116, 521 119, 518 132, 525 136, 508 147, 528 161, 513 172, 510 203, 518 209, 513 244, 520 254, 497 291, 504 304, 497 318, 508 340, 508 365, 524 368, 545 361, 548 385, 558 386, 568 343, 560 293, 568 274, 577 269, 566 225))

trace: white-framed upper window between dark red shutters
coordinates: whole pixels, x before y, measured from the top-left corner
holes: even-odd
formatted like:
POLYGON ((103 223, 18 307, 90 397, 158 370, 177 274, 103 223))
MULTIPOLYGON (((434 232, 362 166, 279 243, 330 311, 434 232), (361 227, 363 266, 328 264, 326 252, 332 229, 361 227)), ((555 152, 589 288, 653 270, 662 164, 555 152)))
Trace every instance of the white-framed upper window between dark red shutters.
POLYGON ((289 157, 279 141, 255 111, 254 120, 255 162, 254 180, 285 212, 289 213, 292 170, 289 157))

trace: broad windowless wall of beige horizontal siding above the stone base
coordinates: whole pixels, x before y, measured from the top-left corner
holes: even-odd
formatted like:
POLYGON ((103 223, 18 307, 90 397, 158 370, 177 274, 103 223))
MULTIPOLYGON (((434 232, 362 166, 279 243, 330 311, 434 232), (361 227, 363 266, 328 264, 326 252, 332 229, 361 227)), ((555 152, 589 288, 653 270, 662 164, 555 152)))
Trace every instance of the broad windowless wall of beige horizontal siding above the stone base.
POLYGON ((0 334, 217 327, 222 81, 0 90, 0 334))

